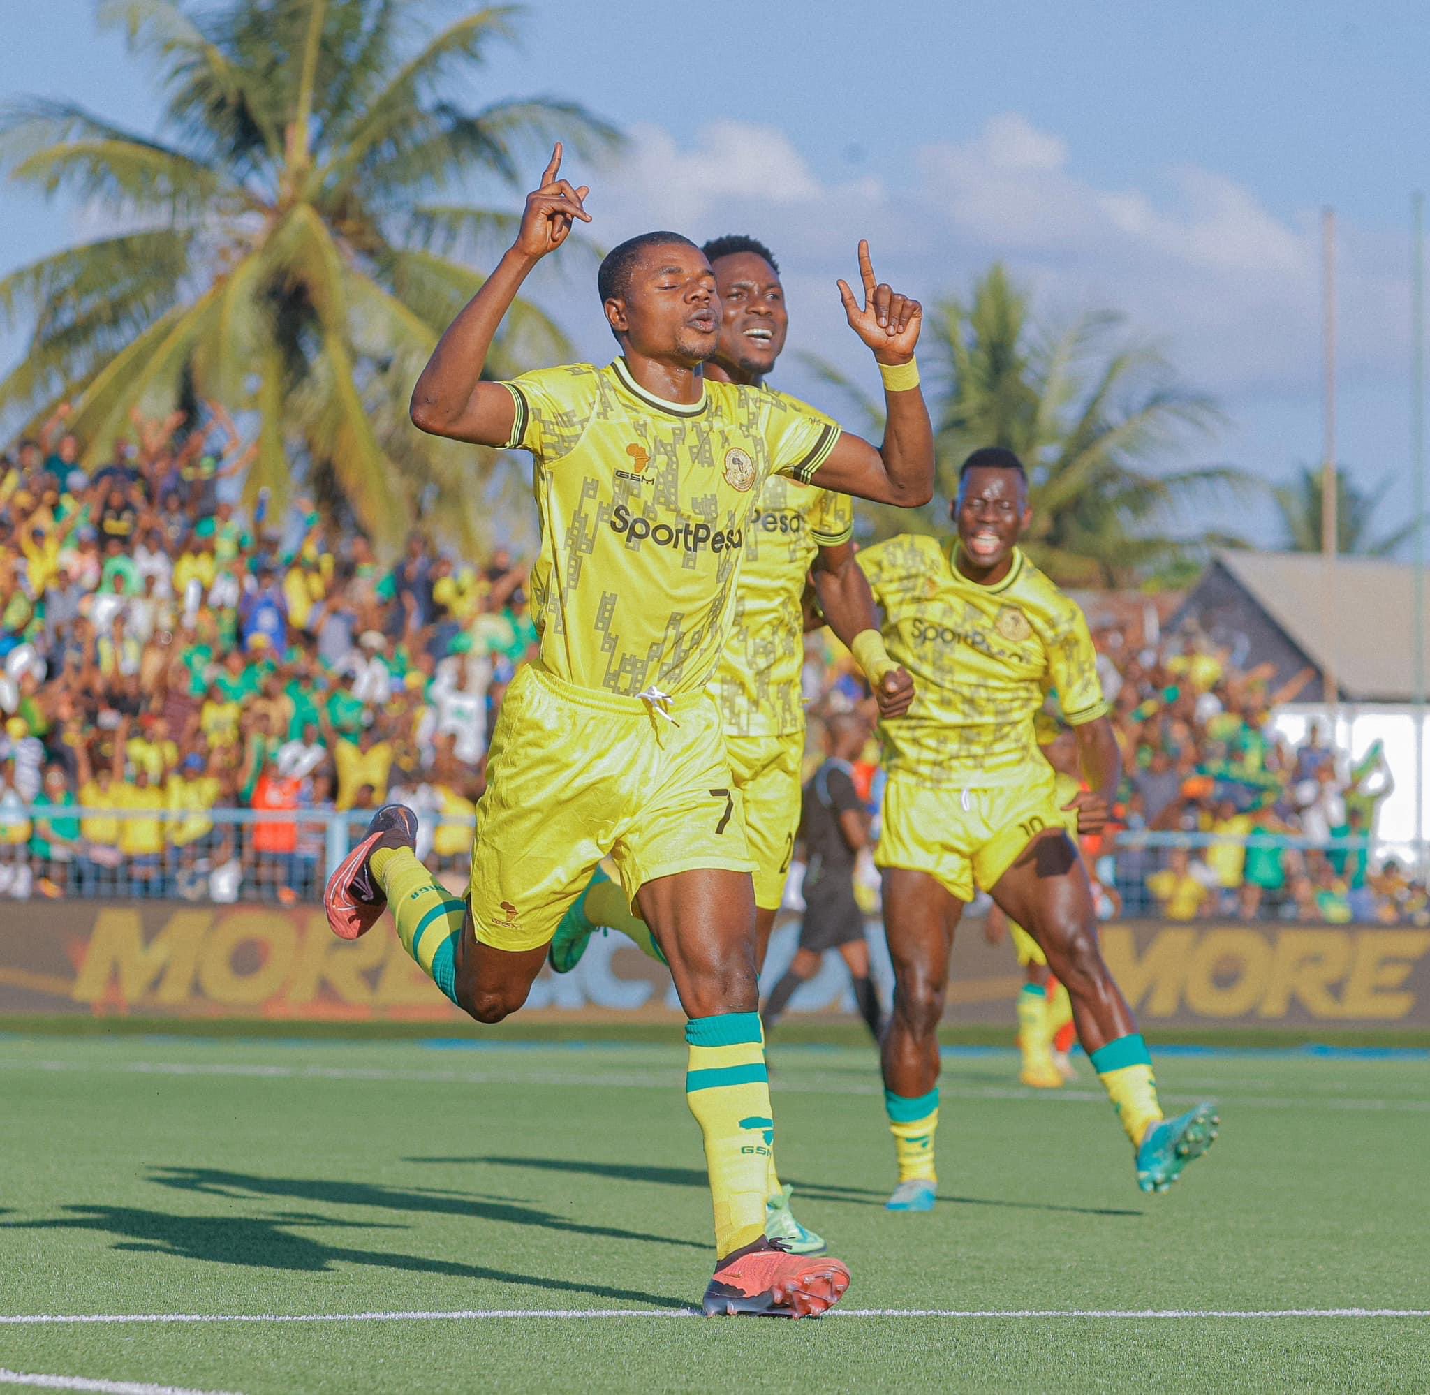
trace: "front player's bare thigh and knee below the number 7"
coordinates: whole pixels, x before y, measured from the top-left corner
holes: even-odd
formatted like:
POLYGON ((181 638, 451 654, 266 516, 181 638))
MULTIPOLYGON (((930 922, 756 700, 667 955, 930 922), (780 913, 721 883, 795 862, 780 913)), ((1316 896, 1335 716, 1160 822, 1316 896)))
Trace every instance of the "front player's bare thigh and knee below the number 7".
POLYGON ((671 966, 689 1018, 755 1012, 755 883, 748 872, 702 868, 646 882, 636 909, 671 966))

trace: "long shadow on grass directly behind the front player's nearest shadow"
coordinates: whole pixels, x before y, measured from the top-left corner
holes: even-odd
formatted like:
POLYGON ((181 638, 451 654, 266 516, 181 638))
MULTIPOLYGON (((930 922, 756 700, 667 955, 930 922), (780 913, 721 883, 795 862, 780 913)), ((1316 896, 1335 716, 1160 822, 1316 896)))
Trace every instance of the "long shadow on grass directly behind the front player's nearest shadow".
POLYGON ((571 1235, 595 1235, 601 1239, 645 1241, 652 1245, 679 1245, 705 1249, 695 1241, 623 1231, 609 1225, 582 1225, 551 1211, 519 1206, 509 1201, 488 1201, 475 1195, 443 1191, 406 1191, 375 1182, 335 1182, 327 1178, 269 1178, 250 1172, 227 1172, 220 1168, 154 1168, 150 1182, 173 1186, 184 1192, 207 1196, 283 1196, 293 1201, 316 1201, 335 1206, 376 1206, 382 1211, 426 1212, 439 1216, 470 1216, 506 1225, 532 1225, 571 1235))

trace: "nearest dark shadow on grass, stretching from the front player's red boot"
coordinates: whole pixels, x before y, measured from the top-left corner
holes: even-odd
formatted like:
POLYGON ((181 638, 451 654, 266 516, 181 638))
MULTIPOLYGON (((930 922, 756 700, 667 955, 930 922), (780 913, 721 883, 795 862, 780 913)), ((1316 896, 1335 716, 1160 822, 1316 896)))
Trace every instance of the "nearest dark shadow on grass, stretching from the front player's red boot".
MULTIPOLYGON (((512 1274, 485 1265, 428 1259, 422 1255, 393 1255, 373 1249, 326 1245, 306 1235, 293 1235, 287 1225, 329 1231, 356 1229, 358 1222, 326 1216, 290 1213, 260 1219, 257 1216, 173 1216, 163 1211, 136 1206, 66 1206, 64 1215, 50 1221, 9 1221, 7 1231, 97 1231, 117 1236, 114 1249, 132 1253, 169 1255, 174 1259, 204 1259, 212 1264, 249 1265, 255 1269, 285 1269, 299 1274, 323 1274, 336 1264, 370 1265, 375 1269, 402 1269, 409 1274, 433 1274, 488 1284, 518 1284, 548 1294, 589 1294, 652 1308, 681 1308, 676 1299, 641 1289, 613 1288, 605 1284, 579 1284, 573 1279, 545 1279, 533 1274, 512 1274)), ((370 1229, 362 1225, 362 1229, 370 1229)), ((398 1226, 382 1226, 398 1229, 398 1226)))

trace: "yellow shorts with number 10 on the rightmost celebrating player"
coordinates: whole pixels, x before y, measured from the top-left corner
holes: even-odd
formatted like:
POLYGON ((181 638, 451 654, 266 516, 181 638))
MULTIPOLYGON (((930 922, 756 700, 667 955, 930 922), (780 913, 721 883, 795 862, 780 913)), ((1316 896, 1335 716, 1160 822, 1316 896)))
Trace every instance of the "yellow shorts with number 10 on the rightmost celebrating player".
POLYGON ((884 823, 874 863, 937 878, 960 900, 974 883, 992 886, 1047 828, 1068 828, 1052 768, 1000 789, 937 789, 894 772, 884 789, 884 823))

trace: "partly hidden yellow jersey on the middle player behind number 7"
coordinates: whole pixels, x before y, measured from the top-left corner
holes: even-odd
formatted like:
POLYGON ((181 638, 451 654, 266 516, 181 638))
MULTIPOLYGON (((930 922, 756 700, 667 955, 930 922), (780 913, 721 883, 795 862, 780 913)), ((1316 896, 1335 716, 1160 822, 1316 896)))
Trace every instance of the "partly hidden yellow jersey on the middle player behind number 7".
POLYGON ((729 639, 712 685, 728 732, 784 736, 804 730, 805 577, 819 547, 852 536, 848 495, 781 475, 765 480, 745 533, 729 639))

